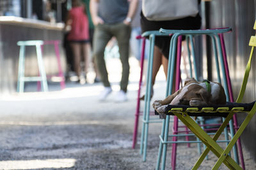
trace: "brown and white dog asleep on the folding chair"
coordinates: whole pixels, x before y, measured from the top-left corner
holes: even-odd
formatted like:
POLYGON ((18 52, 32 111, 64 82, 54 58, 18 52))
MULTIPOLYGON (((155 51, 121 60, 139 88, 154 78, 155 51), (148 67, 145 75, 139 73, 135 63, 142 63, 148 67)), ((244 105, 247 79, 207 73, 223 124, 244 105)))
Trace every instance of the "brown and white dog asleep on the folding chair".
POLYGON ((207 80, 198 82, 194 78, 189 78, 185 81, 182 89, 166 97, 163 101, 154 101, 153 108, 159 114, 164 114, 168 104, 195 107, 209 104, 226 104, 226 95, 220 83, 207 80))

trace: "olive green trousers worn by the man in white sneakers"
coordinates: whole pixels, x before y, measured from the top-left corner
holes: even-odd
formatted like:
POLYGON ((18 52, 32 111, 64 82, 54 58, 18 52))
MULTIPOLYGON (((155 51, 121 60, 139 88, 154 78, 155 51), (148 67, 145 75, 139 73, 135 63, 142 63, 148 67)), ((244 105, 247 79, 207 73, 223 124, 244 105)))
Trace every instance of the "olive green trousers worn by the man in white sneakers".
POLYGON ((129 81, 129 39, 131 36, 131 27, 124 23, 118 24, 99 24, 95 27, 93 35, 93 57, 95 57, 97 67, 99 69, 100 78, 104 87, 110 87, 108 80, 108 71, 104 59, 104 50, 108 41, 115 36, 122 62, 122 79, 120 81, 120 89, 127 92, 129 81))

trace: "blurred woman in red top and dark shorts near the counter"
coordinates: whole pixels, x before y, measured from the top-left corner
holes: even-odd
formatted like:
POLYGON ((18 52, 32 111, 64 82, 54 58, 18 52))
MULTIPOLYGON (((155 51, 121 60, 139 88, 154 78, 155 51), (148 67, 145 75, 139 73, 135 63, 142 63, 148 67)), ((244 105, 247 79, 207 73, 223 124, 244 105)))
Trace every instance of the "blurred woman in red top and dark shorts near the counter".
POLYGON ((89 22, 85 6, 79 0, 72 0, 72 8, 68 11, 65 28, 71 26, 68 41, 74 54, 74 69, 80 83, 85 83, 86 73, 90 64, 89 22), (84 59, 84 76, 81 69, 81 59, 84 59))

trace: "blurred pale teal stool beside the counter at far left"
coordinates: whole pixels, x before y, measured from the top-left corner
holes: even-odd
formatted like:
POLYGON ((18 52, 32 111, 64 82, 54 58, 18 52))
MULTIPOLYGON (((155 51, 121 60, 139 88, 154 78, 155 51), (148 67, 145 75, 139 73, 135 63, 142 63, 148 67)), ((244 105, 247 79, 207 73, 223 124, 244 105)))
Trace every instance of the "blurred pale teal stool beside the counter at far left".
POLYGON ((41 41, 41 40, 18 41, 17 45, 20 46, 17 92, 24 92, 25 81, 40 81, 42 85, 42 90, 44 90, 44 92, 47 92, 48 91, 47 78, 46 78, 44 60, 42 59, 42 51, 41 51, 41 45, 44 45, 44 41, 41 41), (24 75, 26 46, 36 47, 36 57, 37 57, 38 69, 40 73, 39 76, 24 75))

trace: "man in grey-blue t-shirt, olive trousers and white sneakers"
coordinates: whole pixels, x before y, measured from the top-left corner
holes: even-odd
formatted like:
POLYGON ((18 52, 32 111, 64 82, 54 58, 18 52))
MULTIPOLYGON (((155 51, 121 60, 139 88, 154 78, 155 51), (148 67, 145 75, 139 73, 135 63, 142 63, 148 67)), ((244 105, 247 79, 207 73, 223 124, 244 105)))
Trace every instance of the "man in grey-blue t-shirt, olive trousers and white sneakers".
POLYGON ((127 100, 130 24, 136 11, 137 3, 138 0, 131 0, 130 3, 127 0, 90 1, 92 20, 95 25, 93 55, 99 68, 100 80, 104 85, 104 90, 99 97, 100 101, 104 101, 112 92, 104 60, 104 49, 113 36, 118 41, 120 60, 122 62, 122 80, 120 81, 120 91, 116 96, 116 101, 122 102, 127 100))

